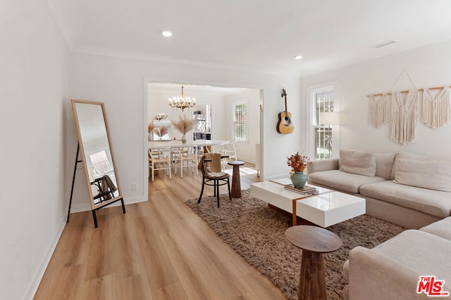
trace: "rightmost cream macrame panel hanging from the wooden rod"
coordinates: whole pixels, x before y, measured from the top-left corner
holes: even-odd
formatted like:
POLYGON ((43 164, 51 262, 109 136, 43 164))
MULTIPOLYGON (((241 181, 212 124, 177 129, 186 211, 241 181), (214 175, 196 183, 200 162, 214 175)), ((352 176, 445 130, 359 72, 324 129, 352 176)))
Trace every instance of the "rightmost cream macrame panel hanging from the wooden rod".
POLYGON ((432 129, 439 129, 450 123, 449 86, 444 86, 436 97, 432 96, 430 89, 424 89, 421 122, 432 129))

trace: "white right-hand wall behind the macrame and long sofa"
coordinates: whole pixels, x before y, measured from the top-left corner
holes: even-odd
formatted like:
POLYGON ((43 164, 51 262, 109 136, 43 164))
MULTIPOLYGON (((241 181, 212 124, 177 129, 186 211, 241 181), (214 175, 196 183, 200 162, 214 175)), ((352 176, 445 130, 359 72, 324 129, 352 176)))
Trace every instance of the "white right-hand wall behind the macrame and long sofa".
MULTIPOLYGON (((402 70, 412 77, 418 88, 451 85, 451 41, 416 48, 410 51, 386 56, 366 63, 359 63, 338 70, 302 77, 301 97, 307 107, 309 86, 329 81, 340 83, 341 148, 399 152, 409 151, 423 155, 450 157, 451 124, 433 130, 420 122, 416 126, 416 141, 403 146, 390 140, 390 124, 381 129, 373 129, 368 122, 368 98, 366 95, 413 89, 405 74, 396 84, 402 70), (396 86, 395 86, 396 84, 396 86)), ((422 93, 420 93, 422 97, 422 93)), ((420 98, 421 102, 421 98, 420 98)), ((419 106, 419 108, 421 105, 419 106)), ((307 115, 303 114, 307 119, 307 115)), ((307 124, 306 124, 307 126, 307 124)), ((307 145, 307 141, 302 141, 307 145)))

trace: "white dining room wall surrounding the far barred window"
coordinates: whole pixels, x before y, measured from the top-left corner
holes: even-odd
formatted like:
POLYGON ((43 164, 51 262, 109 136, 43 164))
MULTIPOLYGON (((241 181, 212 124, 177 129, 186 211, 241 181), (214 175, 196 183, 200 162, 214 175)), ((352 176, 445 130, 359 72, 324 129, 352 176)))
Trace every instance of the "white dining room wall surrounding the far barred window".
POLYGON ((226 118, 226 128, 228 140, 233 139, 233 105, 235 103, 247 103, 247 141, 237 142, 235 148, 237 150, 238 159, 245 162, 255 163, 255 144, 260 141, 260 119, 259 119, 259 99, 260 91, 257 89, 249 89, 242 93, 236 93, 226 97, 227 105, 225 112, 228 118, 226 118))

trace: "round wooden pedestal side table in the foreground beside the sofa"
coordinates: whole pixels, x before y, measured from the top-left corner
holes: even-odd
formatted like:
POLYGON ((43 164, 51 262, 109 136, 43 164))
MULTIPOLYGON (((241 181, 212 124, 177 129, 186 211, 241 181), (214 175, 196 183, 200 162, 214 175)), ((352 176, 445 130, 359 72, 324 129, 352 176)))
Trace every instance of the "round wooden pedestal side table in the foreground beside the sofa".
POLYGON ((285 231, 288 242, 302 249, 298 300, 326 297, 323 253, 339 249, 342 241, 335 233, 316 226, 292 226, 285 231))

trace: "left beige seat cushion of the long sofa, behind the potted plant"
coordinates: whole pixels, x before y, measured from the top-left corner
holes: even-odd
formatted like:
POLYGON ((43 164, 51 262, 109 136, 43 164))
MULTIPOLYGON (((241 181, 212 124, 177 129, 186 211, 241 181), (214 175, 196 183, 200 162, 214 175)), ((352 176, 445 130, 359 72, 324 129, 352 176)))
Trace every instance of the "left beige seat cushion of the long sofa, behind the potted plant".
POLYGON ((357 194, 361 185, 385 181, 381 177, 369 177, 340 170, 319 171, 309 174, 309 183, 323 185, 345 193, 357 194))

